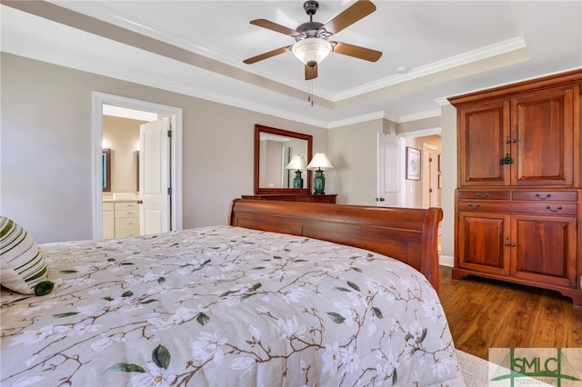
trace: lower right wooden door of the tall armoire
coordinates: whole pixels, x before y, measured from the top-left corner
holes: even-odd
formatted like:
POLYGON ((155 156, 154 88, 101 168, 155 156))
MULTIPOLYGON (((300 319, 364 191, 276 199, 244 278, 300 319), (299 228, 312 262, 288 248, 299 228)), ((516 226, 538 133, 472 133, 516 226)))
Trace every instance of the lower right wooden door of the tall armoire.
POLYGON ((511 274, 516 278, 576 286, 577 219, 513 215, 511 274))

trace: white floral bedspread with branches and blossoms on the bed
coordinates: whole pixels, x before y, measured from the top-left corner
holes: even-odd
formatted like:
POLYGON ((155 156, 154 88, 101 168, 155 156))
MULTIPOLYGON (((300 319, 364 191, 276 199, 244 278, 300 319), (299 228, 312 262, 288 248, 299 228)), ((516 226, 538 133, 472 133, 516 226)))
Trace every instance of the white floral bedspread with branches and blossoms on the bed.
POLYGON ((55 282, 3 289, 2 386, 464 385, 404 263, 237 227, 41 245, 55 282))

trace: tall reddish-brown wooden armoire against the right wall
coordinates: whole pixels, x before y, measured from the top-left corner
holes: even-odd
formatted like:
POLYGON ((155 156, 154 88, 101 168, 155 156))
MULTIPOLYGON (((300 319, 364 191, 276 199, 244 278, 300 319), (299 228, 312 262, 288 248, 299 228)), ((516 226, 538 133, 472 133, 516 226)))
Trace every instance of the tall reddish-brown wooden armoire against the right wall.
POLYGON ((582 71, 449 98, 457 107, 453 278, 558 291, 582 305, 582 71))

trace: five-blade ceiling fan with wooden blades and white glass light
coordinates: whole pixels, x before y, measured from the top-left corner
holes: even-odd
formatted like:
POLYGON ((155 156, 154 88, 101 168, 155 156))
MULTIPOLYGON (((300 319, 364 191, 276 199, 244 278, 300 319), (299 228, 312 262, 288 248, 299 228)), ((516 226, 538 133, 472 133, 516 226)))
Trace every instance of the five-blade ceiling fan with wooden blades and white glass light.
POLYGON ((313 21, 313 15, 319 8, 319 3, 315 0, 308 0, 304 3, 303 9, 309 15, 309 21, 296 27, 296 29, 287 28, 284 25, 277 25, 266 19, 251 20, 251 25, 258 25, 280 34, 289 35, 295 38, 294 45, 286 45, 261 55, 256 55, 244 60, 246 65, 254 64, 263 59, 275 55, 284 54, 288 51, 293 52, 299 60, 305 64, 306 80, 317 77, 317 65, 330 52, 337 54, 353 56, 370 62, 376 62, 382 53, 369 48, 357 45, 347 45, 346 43, 328 41, 332 36, 343 30, 349 25, 353 25, 363 17, 376 11, 376 5, 369 0, 358 0, 353 5, 347 7, 341 14, 336 15, 325 25, 313 21))

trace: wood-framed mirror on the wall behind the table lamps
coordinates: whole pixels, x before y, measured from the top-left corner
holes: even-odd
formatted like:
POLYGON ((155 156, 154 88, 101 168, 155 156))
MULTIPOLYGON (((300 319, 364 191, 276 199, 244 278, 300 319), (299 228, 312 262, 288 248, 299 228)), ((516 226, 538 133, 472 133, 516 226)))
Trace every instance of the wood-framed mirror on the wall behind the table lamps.
POLYGON ((301 171, 303 187, 294 188, 296 171, 286 169, 297 154, 311 160, 313 136, 255 125, 255 194, 310 193, 311 171, 301 171))

